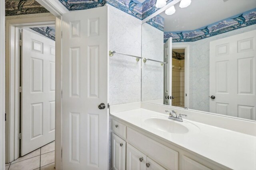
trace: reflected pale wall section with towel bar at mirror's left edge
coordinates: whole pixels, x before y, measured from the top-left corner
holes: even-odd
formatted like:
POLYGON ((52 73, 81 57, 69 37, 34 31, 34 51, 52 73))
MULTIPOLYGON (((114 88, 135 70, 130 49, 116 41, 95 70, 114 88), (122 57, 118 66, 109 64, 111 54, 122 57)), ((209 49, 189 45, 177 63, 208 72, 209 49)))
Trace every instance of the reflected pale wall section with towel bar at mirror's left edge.
MULTIPOLYGON (((142 24, 142 57, 164 61, 164 32, 142 24)), ((154 61, 142 62, 142 101, 163 99, 164 66, 154 61)), ((152 101, 151 101, 152 102, 152 101)))

